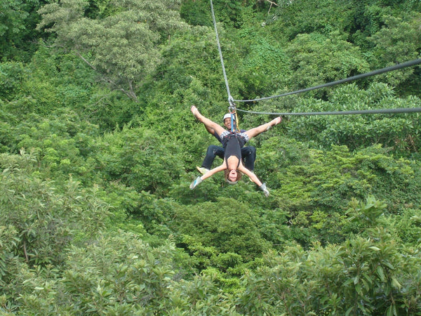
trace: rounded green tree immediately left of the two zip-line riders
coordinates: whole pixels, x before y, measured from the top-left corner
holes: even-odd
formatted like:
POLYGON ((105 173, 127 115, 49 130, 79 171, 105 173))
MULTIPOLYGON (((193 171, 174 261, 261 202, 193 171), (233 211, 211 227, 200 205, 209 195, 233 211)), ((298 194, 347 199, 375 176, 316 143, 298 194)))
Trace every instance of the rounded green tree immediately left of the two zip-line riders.
POLYGON ((153 131, 124 128, 98 143, 96 159, 107 180, 162 196, 182 174, 179 148, 153 131))

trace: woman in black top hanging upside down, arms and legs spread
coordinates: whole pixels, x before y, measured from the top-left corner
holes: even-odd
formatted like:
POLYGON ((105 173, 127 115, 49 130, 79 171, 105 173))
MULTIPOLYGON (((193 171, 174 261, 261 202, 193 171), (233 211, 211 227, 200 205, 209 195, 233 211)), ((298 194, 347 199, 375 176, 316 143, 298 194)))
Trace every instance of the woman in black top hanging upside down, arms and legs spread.
POLYGON ((206 178, 224 170, 225 180, 227 180, 229 184, 236 184, 241 179, 241 173, 245 173, 246 176, 248 176, 256 185, 258 185, 258 187, 260 187, 260 190, 265 193, 266 197, 269 196, 269 190, 267 190, 266 184, 262 183, 253 172, 243 166, 243 163, 241 162, 241 147, 243 147, 243 145, 251 138, 267 131, 272 126, 281 123, 281 117, 276 117, 276 119, 269 121, 269 123, 262 124, 254 129, 249 129, 244 133, 232 133, 231 131, 226 131, 222 126, 216 124, 214 121, 203 117, 194 105, 192 105, 191 110, 194 117, 201 121, 201 123, 205 125, 206 129, 213 129, 213 131, 215 131, 215 133, 217 133, 221 138, 225 151, 225 157, 224 162, 222 162, 220 166, 217 166, 216 168, 207 171, 203 174, 203 176, 196 178, 196 180, 194 180, 190 185, 190 189, 193 190, 196 185, 199 185, 199 183, 206 178))

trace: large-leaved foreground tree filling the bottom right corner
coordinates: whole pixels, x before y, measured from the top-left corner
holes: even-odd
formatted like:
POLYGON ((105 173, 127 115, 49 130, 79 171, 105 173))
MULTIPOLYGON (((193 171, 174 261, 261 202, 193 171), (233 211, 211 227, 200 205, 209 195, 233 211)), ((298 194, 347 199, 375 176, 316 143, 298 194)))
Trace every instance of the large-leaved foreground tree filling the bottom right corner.
MULTIPOLYGON (((382 203, 361 202, 367 213, 382 203)), ((368 237, 309 251, 287 247, 269 252, 260 268, 243 278, 237 307, 244 315, 416 315, 420 256, 402 249, 376 225, 368 237)))

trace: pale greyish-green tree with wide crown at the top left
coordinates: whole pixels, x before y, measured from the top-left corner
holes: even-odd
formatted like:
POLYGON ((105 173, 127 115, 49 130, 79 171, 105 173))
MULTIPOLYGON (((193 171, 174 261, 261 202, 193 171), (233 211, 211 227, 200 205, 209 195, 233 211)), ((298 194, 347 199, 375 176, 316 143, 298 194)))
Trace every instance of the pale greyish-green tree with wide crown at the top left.
POLYGON ((161 59, 159 45, 185 27, 179 1, 109 1, 116 6, 105 18, 86 18, 87 0, 47 4, 38 29, 53 32, 55 44, 72 50, 113 89, 138 101, 136 89, 161 59))

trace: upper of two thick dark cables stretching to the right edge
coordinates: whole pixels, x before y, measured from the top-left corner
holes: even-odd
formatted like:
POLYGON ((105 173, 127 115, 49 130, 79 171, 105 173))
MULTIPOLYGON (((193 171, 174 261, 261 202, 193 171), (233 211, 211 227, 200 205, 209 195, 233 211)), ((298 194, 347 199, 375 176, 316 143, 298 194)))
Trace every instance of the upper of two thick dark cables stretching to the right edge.
POLYGON ((414 65, 418 65, 418 64, 421 64, 421 59, 415 59, 415 60, 410 60, 408 62, 402 62, 401 64, 385 67, 385 68, 382 68, 380 70, 373 70, 372 72, 366 72, 364 74, 357 74, 356 76, 353 76, 353 77, 340 79, 338 81, 328 82, 327 84, 321 84, 319 86, 313 86, 311 88, 305 88, 305 89, 298 90, 298 91, 283 93, 283 94, 280 94, 279 96, 269 96, 269 97, 258 98, 258 99, 253 99, 253 100, 235 100, 234 99, 233 101, 236 101, 236 102, 253 102, 253 101, 260 101, 260 100, 268 100, 268 99, 272 99, 272 98, 279 98, 279 97, 282 97, 282 96, 290 96, 291 94, 312 91, 312 90, 319 89, 319 88, 326 88, 327 86, 335 86, 336 84, 343 84, 344 82, 349 82, 349 81, 353 81, 353 80, 356 80, 356 79, 361 79, 361 78, 373 76, 375 74, 382 74, 384 72, 390 72, 392 70, 398 70, 398 69, 401 69, 401 68, 410 67, 410 66, 414 66, 414 65))

